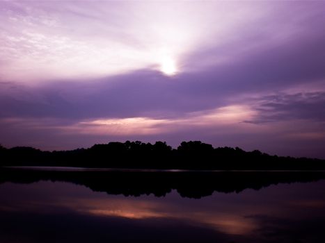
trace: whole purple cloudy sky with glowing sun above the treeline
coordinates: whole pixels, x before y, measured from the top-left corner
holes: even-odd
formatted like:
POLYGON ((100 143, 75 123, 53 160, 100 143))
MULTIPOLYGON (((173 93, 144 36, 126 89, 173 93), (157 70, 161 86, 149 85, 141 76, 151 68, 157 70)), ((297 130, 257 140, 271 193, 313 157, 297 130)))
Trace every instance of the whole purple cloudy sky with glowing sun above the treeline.
POLYGON ((325 1, 1 1, 0 143, 325 158, 325 1))

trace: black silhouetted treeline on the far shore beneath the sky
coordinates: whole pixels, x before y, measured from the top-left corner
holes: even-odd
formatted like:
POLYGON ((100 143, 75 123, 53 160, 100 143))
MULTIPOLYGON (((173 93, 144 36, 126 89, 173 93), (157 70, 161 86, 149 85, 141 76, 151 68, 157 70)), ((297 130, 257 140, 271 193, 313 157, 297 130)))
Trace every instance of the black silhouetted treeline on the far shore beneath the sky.
POLYGON ((200 141, 182 142, 172 149, 166 142, 154 144, 109 142, 88 149, 40 151, 31 147, 0 146, 0 166, 60 166, 129 169, 325 169, 325 160, 270 156, 236 147, 214 148, 200 141))

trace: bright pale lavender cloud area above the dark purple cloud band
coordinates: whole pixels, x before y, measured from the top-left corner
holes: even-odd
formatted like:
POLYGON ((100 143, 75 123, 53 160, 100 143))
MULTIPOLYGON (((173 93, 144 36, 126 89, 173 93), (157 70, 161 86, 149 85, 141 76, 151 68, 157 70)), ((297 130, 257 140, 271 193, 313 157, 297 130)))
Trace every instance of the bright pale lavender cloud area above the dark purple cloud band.
POLYGON ((182 72, 202 71, 266 47, 270 55, 282 44, 313 40, 325 22, 322 2, 6 1, 1 7, 1 76, 25 83, 157 69, 165 56, 182 72))

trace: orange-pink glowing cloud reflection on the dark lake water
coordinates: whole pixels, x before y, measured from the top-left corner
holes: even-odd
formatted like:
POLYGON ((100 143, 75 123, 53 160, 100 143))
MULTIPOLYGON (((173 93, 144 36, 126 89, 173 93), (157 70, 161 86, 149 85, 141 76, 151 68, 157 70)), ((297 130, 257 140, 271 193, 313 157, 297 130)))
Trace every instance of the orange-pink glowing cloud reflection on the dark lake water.
MULTIPOLYGON (((60 205, 60 203, 59 203, 60 205)), ((254 219, 245 218, 239 213, 203 210, 195 208, 191 211, 182 209, 180 205, 172 205, 155 200, 126 199, 77 199, 60 206, 77 210, 79 213, 102 217, 122 217, 127 219, 174 219, 188 221, 193 225, 214 228, 227 234, 249 235, 259 226, 254 219)))

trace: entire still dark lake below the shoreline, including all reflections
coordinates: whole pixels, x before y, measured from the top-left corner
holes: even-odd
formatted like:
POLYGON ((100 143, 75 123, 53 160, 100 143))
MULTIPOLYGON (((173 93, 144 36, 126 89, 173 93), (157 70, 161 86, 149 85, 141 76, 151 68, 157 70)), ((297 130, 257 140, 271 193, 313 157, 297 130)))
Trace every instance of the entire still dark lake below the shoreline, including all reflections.
POLYGON ((0 242, 324 242, 310 173, 5 169, 0 242))

